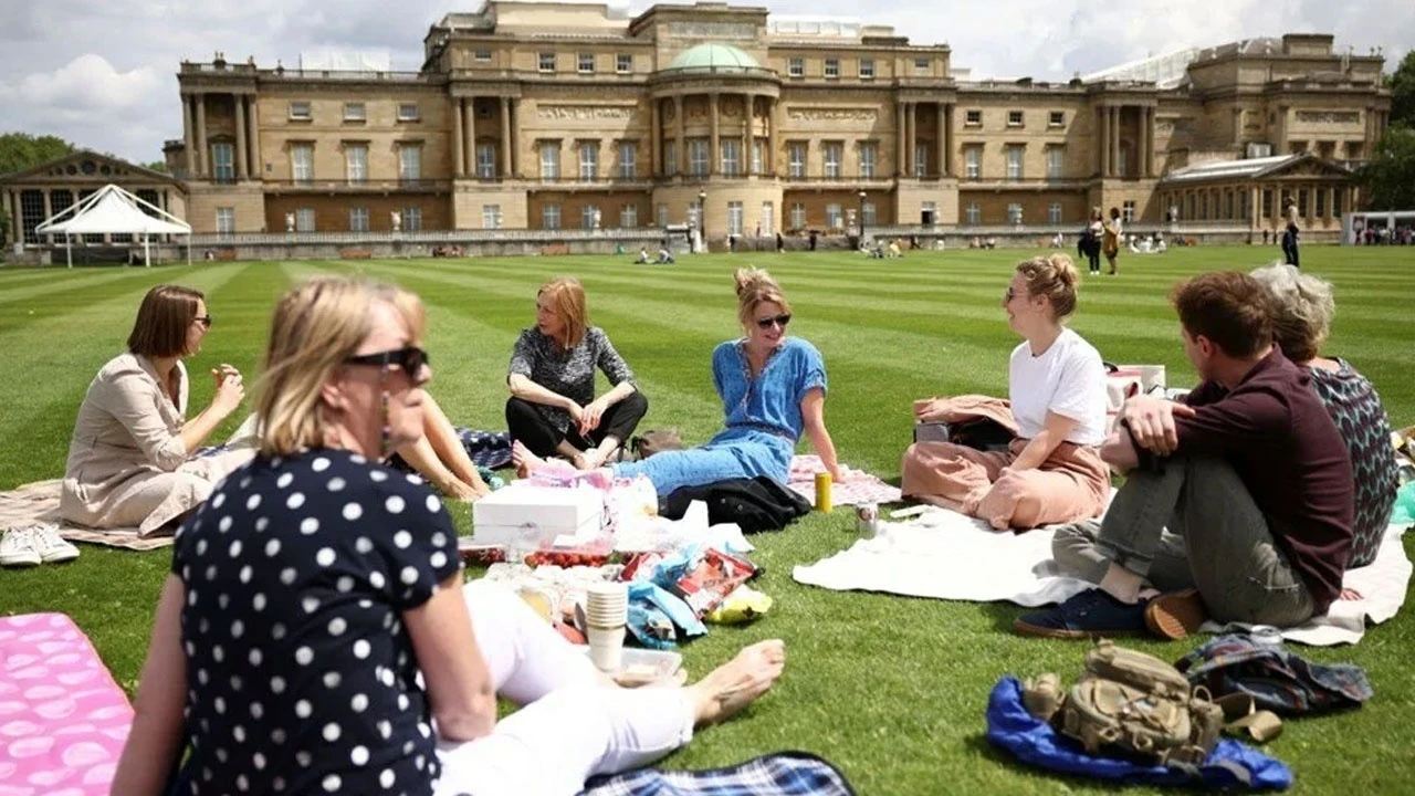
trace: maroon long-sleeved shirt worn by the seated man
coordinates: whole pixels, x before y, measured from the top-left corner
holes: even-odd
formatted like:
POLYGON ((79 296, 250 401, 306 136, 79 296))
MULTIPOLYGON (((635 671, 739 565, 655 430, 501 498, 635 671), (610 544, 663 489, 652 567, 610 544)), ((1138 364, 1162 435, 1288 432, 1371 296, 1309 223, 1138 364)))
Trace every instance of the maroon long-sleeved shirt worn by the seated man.
POLYGON ((1176 418, 1179 450, 1232 465, 1326 613, 1351 555, 1356 497, 1346 442, 1312 377, 1274 346, 1232 391, 1206 381, 1184 402, 1197 414, 1176 418))

